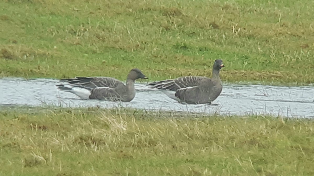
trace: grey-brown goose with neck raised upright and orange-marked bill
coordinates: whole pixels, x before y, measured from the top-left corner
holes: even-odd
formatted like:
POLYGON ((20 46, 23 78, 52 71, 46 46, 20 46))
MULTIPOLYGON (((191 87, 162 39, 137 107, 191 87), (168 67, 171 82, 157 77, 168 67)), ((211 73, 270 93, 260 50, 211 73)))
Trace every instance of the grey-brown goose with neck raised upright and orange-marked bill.
POLYGON ((211 104, 222 91, 219 71, 225 65, 215 60, 212 78, 204 76, 182 76, 171 80, 161 80, 147 84, 151 89, 164 92, 169 98, 181 104, 211 104))

